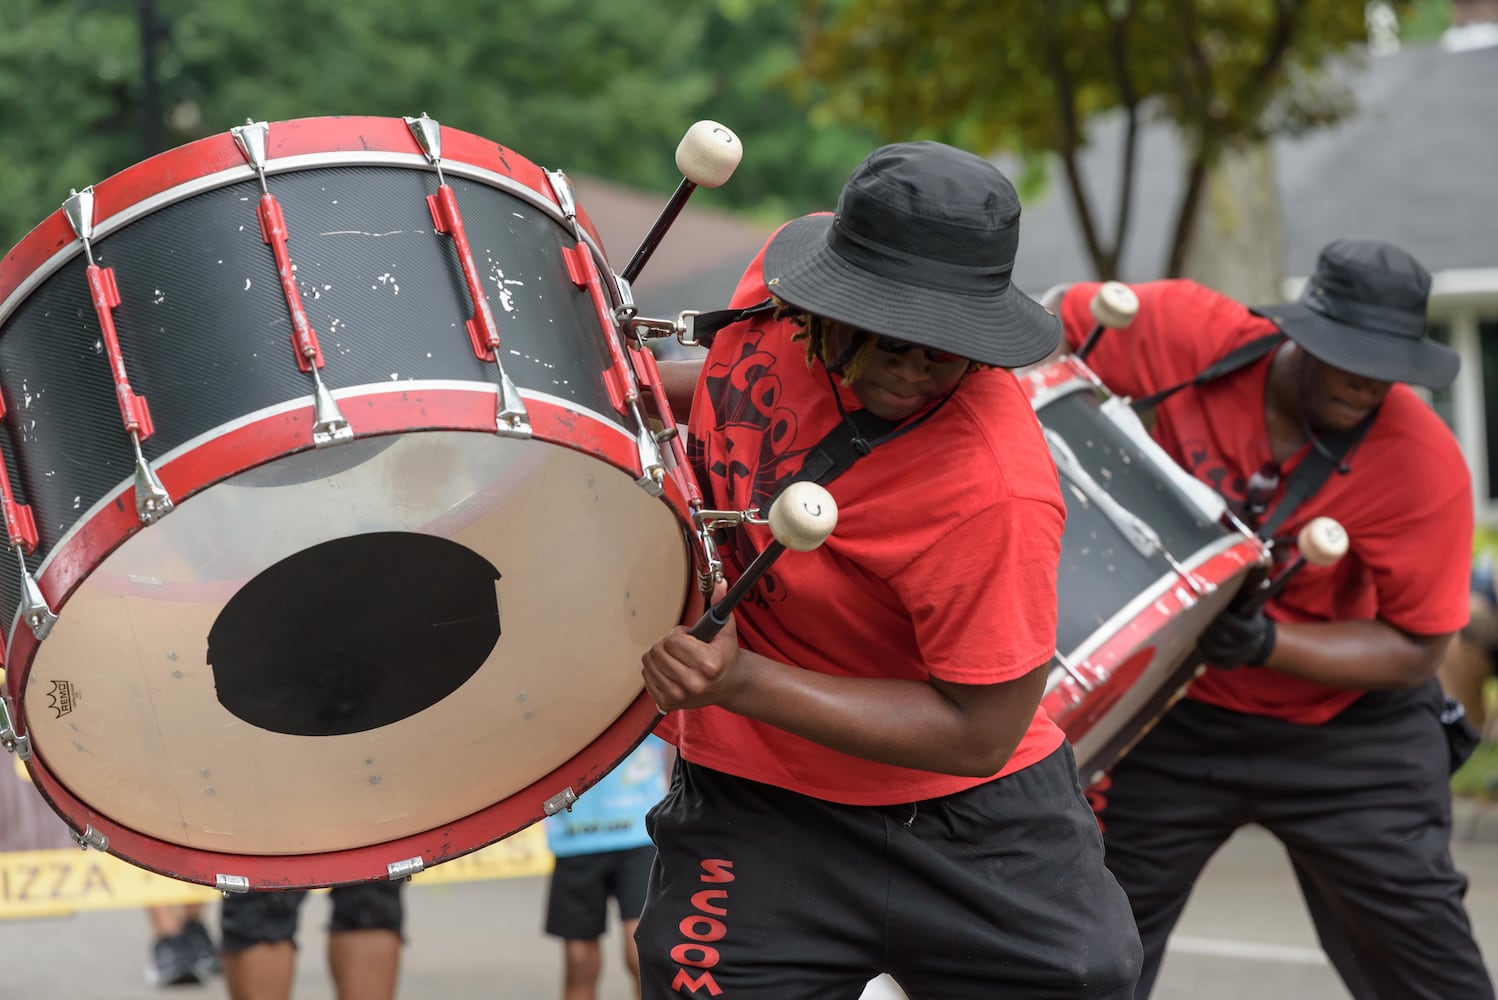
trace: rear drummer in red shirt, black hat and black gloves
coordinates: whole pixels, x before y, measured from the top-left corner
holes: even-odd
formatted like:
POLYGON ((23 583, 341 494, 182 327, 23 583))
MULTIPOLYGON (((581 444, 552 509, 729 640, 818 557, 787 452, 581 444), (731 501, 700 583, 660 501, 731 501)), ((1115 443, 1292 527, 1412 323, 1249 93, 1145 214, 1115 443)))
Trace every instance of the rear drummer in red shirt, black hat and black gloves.
MULTIPOLYGON (((1450 385, 1459 358, 1425 337, 1431 277, 1398 247, 1327 246, 1299 302, 1251 311, 1191 281, 1135 286, 1132 325, 1088 356, 1143 398, 1282 332, 1263 361, 1174 392, 1153 436, 1236 506, 1273 516, 1314 449, 1366 422, 1276 534, 1336 518, 1347 557, 1305 566, 1255 614, 1200 638, 1212 665, 1113 769, 1107 862, 1144 943, 1138 997, 1207 859, 1239 826, 1284 843, 1326 949, 1359 1000, 1479 1000, 1492 981, 1452 864, 1452 747, 1435 668, 1468 614, 1473 493, 1447 427, 1405 383, 1450 385)), ((1077 346, 1095 284, 1061 304, 1077 346)))

